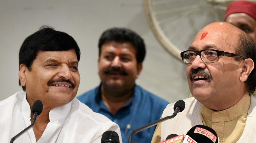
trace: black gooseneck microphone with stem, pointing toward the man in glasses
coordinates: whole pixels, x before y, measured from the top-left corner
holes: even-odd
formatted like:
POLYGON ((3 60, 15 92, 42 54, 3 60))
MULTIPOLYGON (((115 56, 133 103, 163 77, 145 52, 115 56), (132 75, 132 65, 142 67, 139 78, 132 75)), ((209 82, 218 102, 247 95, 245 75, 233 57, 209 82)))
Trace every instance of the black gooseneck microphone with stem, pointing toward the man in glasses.
POLYGON ((159 120, 156 120, 156 121, 154 121, 154 122, 152 122, 152 123, 149 123, 149 124, 147 124, 147 125, 145 125, 145 126, 142 126, 142 127, 140 127, 140 128, 137 128, 137 129, 135 129, 135 130, 132 130, 132 132, 130 133, 130 136, 129 136, 129 143, 132 142, 132 136, 133 136, 133 134, 135 134, 135 133, 137 133, 137 132, 141 132, 141 131, 143 131, 143 130, 146 130, 146 129, 148 129, 148 128, 150 128, 150 127, 156 125, 156 124, 159 124, 159 123, 161 123, 161 122, 164 122, 165 120, 174 118, 179 112, 182 112, 182 111, 185 109, 185 102, 184 102, 183 100, 177 101, 177 102, 174 104, 173 109, 174 109, 174 112, 173 112, 173 114, 172 114, 171 116, 164 117, 164 118, 162 118, 162 119, 159 119, 159 120))

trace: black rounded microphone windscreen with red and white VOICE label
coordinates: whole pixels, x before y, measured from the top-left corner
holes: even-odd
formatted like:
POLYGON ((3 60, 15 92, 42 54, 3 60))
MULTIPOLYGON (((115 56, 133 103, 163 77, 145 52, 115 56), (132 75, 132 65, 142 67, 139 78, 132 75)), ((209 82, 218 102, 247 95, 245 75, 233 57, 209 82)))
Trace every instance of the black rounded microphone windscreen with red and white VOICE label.
POLYGON ((195 125, 192 127, 187 135, 194 139, 197 143, 218 143, 217 133, 210 127, 205 125, 195 125))

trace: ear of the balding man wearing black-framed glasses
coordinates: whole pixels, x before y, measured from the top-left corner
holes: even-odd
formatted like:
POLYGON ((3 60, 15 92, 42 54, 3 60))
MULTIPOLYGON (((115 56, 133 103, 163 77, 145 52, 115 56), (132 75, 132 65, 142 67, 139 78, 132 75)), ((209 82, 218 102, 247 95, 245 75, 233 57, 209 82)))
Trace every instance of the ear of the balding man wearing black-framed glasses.
POLYGON ((241 76, 240 76, 240 81, 241 82, 244 82, 244 81, 247 80, 247 78, 249 77, 253 68, 254 68, 253 60, 252 59, 245 59, 243 69, 242 69, 242 73, 241 73, 241 76))

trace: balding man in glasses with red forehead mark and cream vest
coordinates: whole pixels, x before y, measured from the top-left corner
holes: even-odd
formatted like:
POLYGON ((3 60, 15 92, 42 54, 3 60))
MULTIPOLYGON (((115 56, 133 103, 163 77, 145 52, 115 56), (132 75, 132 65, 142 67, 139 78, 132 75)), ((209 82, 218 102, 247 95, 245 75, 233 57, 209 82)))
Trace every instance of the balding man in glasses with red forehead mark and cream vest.
MULTIPOLYGON (((204 27, 188 51, 181 53, 188 64, 188 85, 194 97, 177 117, 156 127, 152 143, 172 134, 186 134, 197 124, 215 130, 220 143, 256 142, 256 49, 252 38, 225 22, 204 27)), ((167 105, 162 117, 173 112, 167 105)))

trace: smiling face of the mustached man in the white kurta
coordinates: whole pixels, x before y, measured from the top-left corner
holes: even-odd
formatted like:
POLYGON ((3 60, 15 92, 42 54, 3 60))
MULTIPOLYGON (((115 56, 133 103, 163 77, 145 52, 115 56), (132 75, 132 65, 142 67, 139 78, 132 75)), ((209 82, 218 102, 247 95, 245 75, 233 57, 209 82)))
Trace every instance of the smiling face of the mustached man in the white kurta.
POLYGON ((80 83, 78 61, 74 49, 39 51, 31 70, 20 65, 19 78, 26 86, 27 100, 41 100, 44 106, 59 107, 72 101, 80 83))

